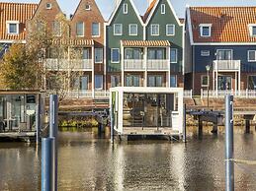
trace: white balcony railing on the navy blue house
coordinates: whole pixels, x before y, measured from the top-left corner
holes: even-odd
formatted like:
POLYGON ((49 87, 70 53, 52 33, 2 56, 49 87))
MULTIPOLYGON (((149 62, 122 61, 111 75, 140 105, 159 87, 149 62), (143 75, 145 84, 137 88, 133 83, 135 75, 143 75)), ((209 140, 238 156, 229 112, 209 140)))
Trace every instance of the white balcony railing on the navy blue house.
POLYGON ((240 70, 240 60, 214 60, 213 70, 215 71, 229 71, 229 70, 240 70))

